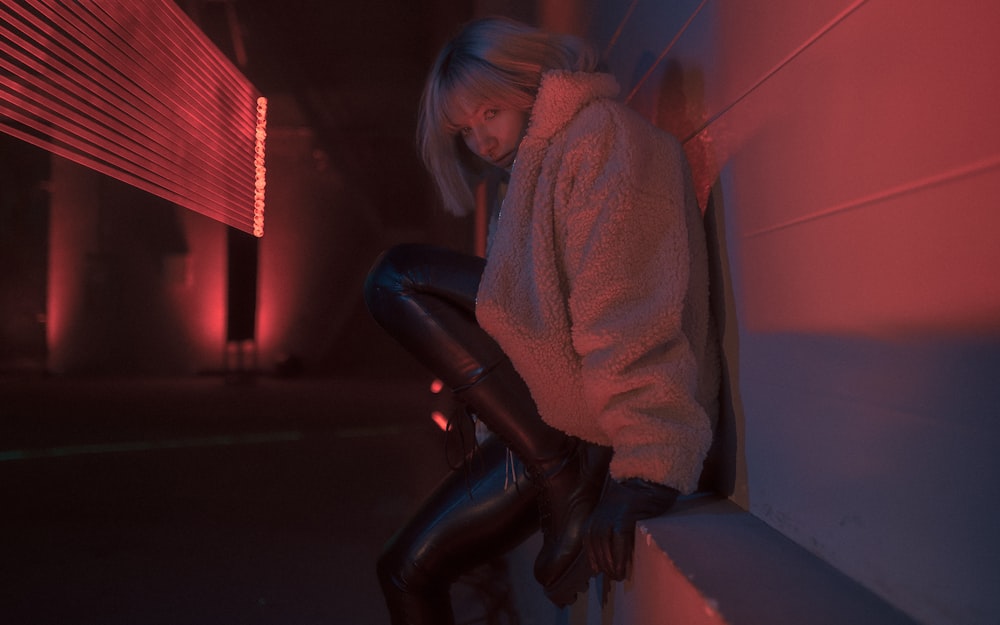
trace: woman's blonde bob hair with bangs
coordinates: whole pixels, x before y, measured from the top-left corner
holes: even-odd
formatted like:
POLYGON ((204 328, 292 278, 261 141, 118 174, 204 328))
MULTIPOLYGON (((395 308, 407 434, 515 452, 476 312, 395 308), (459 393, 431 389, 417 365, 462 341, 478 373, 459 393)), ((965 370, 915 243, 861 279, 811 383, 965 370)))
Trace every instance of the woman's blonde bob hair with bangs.
POLYGON ((500 17, 466 24, 431 68, 417 124, 417 148, 445 209, 468 214, 474 204, 472 189, 487 169, 457 133, 457 106, 488 102, 527 112, 543 73, 596 69, 596 53, 576 37, 500 17))

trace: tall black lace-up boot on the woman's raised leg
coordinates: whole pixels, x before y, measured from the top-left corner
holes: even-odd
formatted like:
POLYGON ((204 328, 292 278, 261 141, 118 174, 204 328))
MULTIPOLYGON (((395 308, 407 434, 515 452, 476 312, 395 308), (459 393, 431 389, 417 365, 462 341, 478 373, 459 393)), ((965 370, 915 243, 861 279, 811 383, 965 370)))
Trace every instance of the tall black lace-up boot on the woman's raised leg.
POLYGON ((520 458, 539 488, 543 542, 535 578, 556 605, 573 603, 594 574, 583 531, 601 497, 610 448, 585 443, 542 421, 509 360, 455 394, 520 458))

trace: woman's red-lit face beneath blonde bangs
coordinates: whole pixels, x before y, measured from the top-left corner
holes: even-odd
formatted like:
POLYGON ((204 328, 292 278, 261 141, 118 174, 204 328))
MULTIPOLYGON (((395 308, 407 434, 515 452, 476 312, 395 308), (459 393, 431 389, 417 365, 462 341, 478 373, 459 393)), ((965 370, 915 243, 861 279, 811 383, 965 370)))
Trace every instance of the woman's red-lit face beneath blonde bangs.
POLYGON ((473 154, 487 163, 510 170, 528 126, 528 113, 493 104, 461 107, 453 120, 473 154))

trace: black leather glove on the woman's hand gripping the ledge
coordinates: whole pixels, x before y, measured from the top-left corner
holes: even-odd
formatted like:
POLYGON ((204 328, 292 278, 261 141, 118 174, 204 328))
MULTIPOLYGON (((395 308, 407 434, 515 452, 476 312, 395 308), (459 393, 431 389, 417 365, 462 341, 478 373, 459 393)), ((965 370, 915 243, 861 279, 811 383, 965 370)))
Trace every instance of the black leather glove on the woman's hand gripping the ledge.
POLYGON ((638 478, 623 482, 609 478, 584 534, 591 564, 613 580, 625 579, 632 563, 635 522, 663 514, 679 494, 638 478))

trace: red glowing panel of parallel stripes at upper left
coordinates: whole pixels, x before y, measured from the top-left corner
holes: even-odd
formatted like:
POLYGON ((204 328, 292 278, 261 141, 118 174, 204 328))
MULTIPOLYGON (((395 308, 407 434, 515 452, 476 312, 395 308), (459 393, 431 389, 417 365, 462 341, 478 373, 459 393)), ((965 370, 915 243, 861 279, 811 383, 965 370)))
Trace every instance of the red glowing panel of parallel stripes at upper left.
POLYGON ((0 53, 0 131, 262 234, 255 90, 175 3, 4 3, 0 53))

